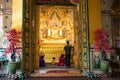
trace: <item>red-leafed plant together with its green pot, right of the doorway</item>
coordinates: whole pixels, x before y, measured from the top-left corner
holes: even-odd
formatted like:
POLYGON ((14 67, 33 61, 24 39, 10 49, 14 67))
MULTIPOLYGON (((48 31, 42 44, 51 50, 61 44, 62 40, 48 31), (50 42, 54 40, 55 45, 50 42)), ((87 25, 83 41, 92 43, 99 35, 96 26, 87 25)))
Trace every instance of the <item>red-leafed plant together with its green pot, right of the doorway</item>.
POLYGON ((108 32, 103 29, 95 31, 96 43, 94 49, 101 52, 101 70, 104 72, 108 72, 109 70, 109 60, 106 58, 106 52, 112 52, 108 37, 108 32))

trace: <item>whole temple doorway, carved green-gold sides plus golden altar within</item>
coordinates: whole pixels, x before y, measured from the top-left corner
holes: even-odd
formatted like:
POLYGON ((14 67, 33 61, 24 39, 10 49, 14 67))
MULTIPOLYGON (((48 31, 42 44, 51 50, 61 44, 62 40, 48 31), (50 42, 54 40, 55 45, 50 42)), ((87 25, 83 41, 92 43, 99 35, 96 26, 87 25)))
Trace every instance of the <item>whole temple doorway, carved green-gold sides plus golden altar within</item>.
POLYGON ((87 0, 79 4, 72 4, 68 0, 47 2, 45 5, 40 0, 37 3, 24 1, 23 72, 39 69, 42 54, 47 63, 53 57, 58 62, 60 55, 64 54, 63 47, 67 40, 74 46, 74 68, 88 70, 87 0))

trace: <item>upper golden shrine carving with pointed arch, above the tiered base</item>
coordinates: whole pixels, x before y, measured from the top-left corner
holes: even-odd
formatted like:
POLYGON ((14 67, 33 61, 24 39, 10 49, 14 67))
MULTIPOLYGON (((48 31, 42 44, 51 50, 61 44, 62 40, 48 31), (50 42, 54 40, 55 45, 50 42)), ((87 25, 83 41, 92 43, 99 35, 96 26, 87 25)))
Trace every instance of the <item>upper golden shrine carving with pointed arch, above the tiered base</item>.
POLYGON ((65 6, 41 6, 39 9, 41 43, 65 43, 74 36, 73 9, 65 6))

